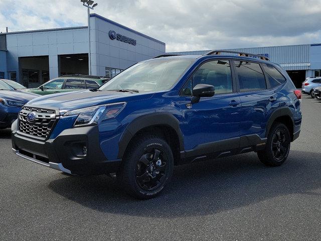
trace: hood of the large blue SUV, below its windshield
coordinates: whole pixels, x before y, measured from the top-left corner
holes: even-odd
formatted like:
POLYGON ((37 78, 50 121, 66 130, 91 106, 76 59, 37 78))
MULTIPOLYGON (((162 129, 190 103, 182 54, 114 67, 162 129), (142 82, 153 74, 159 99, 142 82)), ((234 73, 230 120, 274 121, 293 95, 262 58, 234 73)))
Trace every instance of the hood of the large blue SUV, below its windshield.
POLYGON ((28 106, 59 109, 60 113, 93 105, 128 102, 150 98, 153 93, 80 90, 37 97, 28 106))

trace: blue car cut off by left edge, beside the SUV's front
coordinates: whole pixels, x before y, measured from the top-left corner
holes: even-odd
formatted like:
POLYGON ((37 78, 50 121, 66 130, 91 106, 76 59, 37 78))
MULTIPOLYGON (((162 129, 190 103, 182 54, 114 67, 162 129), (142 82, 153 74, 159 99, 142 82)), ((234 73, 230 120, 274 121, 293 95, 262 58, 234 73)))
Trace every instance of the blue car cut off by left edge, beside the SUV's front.
POLYGON ((39 94, 19 91, 0 80, 0 129, 10 128, 21 107, 39 94))

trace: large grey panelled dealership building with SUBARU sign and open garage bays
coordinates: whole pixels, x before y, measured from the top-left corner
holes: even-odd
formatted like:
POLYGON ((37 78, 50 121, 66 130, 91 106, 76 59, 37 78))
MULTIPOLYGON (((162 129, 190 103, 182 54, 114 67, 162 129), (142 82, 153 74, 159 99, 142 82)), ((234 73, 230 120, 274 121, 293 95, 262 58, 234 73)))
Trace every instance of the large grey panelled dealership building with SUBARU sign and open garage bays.
MULTIPOLYGON (((64 74, 88 74, 87 27, 0 34, 0 78, 29 88, 64 74)), ((165 43, 97 14, 90 15, 91 74, 112 77, 165 54, 165 43)))

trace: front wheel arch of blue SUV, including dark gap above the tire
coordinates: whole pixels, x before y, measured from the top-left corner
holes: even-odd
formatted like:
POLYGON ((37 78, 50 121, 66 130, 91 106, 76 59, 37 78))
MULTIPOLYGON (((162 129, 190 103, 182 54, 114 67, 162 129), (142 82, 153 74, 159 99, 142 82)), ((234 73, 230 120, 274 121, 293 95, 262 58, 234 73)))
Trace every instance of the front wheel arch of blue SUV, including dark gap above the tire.
MULTIPOLYGON (((173 114, 158 112, 139 116, 128 124, 119 141, 118 158, 124 156, 134 137, 143 132, 153 134, 152 131, 163 134, 167 141, 171 142, 171 148, 177 148, 178 152, 184 151, 183 134, 178 119, 173 114)), ((175 155, 175 152, 173 154, 175 155)))

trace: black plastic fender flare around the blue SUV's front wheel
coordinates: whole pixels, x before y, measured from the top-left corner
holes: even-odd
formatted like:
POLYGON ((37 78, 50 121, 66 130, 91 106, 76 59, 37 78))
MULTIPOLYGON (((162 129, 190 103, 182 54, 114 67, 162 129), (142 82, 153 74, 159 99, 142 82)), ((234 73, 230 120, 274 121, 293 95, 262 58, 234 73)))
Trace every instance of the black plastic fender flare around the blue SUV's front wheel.
POLYGON ((167 112, 154 112, 139 116, 127 125, 119 140, 118 158, 123 157, 129 142, 136 133, 146 127, 158 125, 166 125, 173 128, 179 138, 180 151, 184 151, 184 139, 179 120, 173 114, 167 112))

